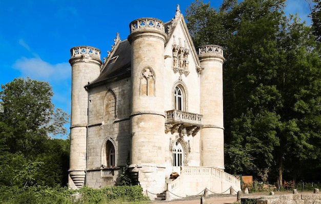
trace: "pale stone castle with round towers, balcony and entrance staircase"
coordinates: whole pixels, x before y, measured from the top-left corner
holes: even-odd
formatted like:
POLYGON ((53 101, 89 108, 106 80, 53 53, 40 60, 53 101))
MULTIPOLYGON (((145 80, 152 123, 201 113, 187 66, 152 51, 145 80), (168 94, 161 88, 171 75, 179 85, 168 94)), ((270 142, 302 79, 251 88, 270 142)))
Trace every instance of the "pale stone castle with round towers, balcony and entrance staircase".
POLYGON ((129 29, 103 60, 97 48, 71 49, 70 187, 117 185, 129 162, 151 199, 240 190, 224 172, 222 47, 195 48, 178 5, 166 23, 129 29))

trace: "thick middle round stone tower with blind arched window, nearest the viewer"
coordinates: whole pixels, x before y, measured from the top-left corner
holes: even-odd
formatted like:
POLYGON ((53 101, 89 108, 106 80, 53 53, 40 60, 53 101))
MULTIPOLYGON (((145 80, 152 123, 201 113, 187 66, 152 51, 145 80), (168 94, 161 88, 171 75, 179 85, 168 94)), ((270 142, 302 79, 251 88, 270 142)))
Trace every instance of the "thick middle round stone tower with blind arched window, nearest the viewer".
POLYGON ((131 44, 131 155, 130 168, 150 192, 164 191, 164 23, 139 18, 129 25, 131 44))

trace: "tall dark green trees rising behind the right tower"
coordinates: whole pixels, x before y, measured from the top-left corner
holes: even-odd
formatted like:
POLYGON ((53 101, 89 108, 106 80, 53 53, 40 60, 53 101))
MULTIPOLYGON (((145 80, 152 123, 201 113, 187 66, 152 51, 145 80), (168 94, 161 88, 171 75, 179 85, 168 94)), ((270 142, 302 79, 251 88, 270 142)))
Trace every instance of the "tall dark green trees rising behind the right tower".
POLYGON ((285 0, 224 0, 212 23, 222 30, 206 28, 206 36, 199 25, 211 25, 204 16, 214 10, 196 1, 187 12, 199 21, 188 23, 193 40, 225 48, 227 169, 263 180, 277 171, 279 183, 285 168, 295 178, 291 164, 315 159, 321 147, 319 53, 311 28, 286 17, 284 7, 285 0))

